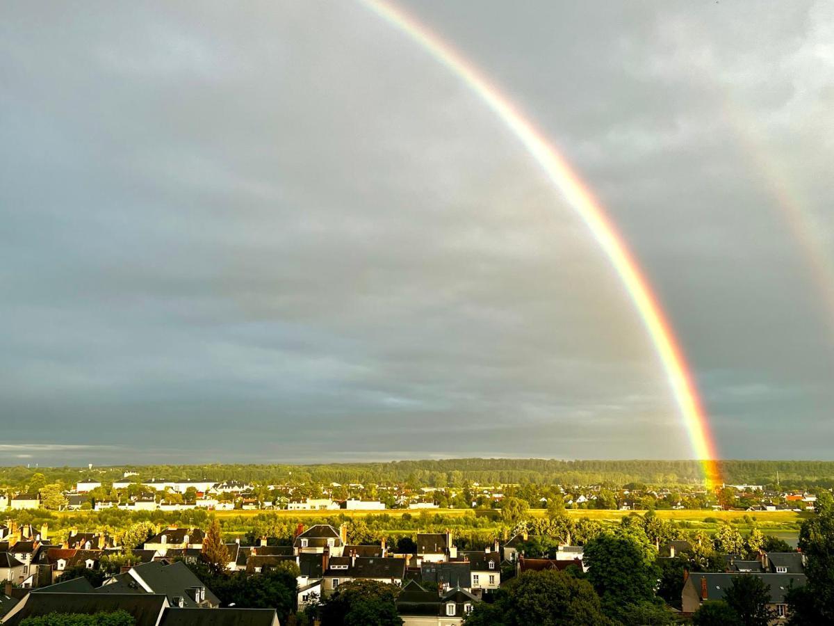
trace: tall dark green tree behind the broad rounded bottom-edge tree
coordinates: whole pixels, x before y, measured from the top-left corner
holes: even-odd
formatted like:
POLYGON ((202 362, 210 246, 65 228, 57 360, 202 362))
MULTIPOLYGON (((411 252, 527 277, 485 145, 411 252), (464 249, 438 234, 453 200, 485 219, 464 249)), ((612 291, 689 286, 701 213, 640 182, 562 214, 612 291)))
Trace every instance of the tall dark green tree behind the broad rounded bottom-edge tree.
POLYGON ((625 622, 634 606, 655 602, 659 573, 645 547, 634 539, 603 533, 585 544, 583 561, 610 618, 625 622))

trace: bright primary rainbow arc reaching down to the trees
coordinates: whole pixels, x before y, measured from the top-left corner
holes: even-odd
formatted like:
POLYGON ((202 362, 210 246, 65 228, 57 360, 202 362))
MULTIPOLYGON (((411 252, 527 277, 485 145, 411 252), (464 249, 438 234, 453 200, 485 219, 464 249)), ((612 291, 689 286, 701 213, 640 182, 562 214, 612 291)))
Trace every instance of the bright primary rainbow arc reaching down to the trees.
POLYGON ((643 324, 646 326, 658 357, 666 371, 672 392, 681 411, 692 452, 703 465, 708 484, 720 480, 716 462, 716 447, 710 434, 706 412, 697 394, 686 359, 678 346, 675 334, 656 296, 641 272, 628 246, 611 223, 605 210, 590 190, 570 168, 565 158, 550 144, 533 124, 525 119, 515 104, 490 82, 460 53, 442 41, 428 28, 400 8, 380 0, 360 0, 386 22, 419 43, 452 73, 474 91, 490 109, 520 139, 527 151, 540 165, 568 204, 590 229, 611 265, 631 296, 643 324))

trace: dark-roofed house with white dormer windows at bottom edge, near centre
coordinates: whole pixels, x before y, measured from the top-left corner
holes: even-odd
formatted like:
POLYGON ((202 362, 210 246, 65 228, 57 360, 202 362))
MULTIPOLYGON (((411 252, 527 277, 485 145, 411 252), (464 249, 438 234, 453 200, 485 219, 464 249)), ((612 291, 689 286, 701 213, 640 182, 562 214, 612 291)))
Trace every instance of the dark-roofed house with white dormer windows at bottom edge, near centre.
POLYGON ((457 626, 480 599, 460 588, 437 593, 409 580, 397 598, 403 626, 457 626))

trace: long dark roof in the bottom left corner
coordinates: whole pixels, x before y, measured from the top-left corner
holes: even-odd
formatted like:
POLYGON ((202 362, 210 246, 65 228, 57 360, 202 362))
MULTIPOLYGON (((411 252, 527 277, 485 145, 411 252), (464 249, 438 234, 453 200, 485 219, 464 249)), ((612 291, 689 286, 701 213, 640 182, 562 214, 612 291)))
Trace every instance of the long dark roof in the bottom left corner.
POLYGON ((25 618, 49 613, 113 613, 124 610, 133 615, 136 626, 156 626, 165 605, 162 594, 103 595, 99 593, 29 593, 23 607, 3 624, 18 626, 25 618))

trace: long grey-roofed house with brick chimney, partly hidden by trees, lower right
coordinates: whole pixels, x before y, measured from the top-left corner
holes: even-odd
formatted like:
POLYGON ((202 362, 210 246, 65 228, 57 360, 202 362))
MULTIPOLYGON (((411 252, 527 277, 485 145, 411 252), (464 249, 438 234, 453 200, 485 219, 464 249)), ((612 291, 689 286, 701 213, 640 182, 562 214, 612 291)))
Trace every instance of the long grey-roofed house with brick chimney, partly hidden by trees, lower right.
POLYGON ((707 600, 721 600, 724 592, 736 576, 755 576, 771 588, 771 601, 767 604, 781 620, 788 617, 786 593, 792 587, 805 585, 804 574, 786 573, 691 573, 681 591, 682 613, 695 613, 707 600))

